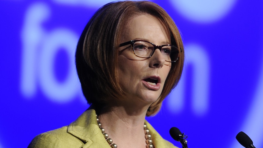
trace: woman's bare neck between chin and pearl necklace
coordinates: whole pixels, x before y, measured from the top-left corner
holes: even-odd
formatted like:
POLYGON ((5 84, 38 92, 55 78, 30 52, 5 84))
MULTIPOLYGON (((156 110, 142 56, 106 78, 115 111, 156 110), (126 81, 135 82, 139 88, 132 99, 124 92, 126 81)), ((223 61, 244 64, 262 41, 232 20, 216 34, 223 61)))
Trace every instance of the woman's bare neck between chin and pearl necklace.
POLYGON ((113 139, 113 143, 118 147, 145 148, 143 125, 148 107, 140 109, 130 106, 104 107, 98 118, 109 138, 113 139))

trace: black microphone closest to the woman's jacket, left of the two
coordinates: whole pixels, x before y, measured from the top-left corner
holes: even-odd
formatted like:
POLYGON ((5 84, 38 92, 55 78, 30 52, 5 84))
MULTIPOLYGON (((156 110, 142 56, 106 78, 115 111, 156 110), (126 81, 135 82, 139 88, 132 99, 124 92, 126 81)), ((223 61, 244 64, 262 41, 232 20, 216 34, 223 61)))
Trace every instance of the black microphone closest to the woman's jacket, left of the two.
POLYGON ((172 127, 169 132, 175 141, 179 141, 182 144, 183 148, 188 148, 186 141, 187 135, 184 135, 184 133, 180 132, 180 130, 176 127, 172 127))

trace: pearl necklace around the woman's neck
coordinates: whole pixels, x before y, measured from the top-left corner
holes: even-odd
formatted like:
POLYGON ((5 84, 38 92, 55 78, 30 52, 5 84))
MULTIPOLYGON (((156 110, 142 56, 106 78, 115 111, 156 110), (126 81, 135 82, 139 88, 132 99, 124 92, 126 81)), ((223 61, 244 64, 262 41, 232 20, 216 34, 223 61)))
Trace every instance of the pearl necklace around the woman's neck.
MULTIPOLYGON (((104 138, 106 139, 106 141, 109 143, 109 145, 112 148, 117 148, 117 144, 113 143, 113 140, 111 138, 109 138, 109 135, 107 133, 105 133, 105 129, 102 128, 101 123, 99 122, 99 118, 98 115, 96 114, 96 118, 97 118, 97 123, 99 125, 99 128, 102 132, 102 134, 104 135, 104 138)), ((153 148, 153 140, 151 139, 151 135, 150 135, 150 131, 147 128, 146 124, 143 125, 144 128, 144 133, 145 133, 145 139, 146 139, 146 148, 153 148)))

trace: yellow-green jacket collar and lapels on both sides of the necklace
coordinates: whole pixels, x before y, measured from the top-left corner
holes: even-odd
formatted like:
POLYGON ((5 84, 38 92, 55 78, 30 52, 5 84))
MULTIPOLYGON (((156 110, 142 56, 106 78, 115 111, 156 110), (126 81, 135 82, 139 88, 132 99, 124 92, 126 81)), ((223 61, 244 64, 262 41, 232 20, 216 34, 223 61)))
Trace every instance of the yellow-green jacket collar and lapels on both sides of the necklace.
MULTIPOLYGON (((175 147, 173 144, 164 140, 159 133, 145 120, 147 128, 150 130, 150 134, 153 139, 154 147, 175 147)), ((110 145, 105 140, 101 130, 97 124, 96 112, 94 109, 88 109, 72 122, 67 132, 74 135, 78 139, 83 141, 83 148, 97 147, 97 148, 110 148, 110 145)))

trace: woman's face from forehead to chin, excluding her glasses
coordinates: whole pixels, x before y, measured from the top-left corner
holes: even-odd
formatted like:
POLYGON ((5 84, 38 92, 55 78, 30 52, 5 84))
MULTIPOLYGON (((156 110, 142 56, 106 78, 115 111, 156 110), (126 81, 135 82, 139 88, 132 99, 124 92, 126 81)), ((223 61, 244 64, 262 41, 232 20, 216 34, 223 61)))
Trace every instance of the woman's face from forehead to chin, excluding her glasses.
MULTIPOLYGON (((135 16, 129 20, 124 34, 121 43, 144 40, 155 45, 171 44, 164 27, 150 14, 135 16)), ((131 45, 120 47, 119 51, 118 73, 121 87, 127 92, 128 99, 125 100, 150 105, 159 98, 171 63, 165 61, 159 49, 150 58, 135 56, 131 45)))

